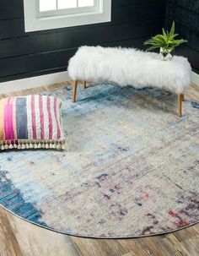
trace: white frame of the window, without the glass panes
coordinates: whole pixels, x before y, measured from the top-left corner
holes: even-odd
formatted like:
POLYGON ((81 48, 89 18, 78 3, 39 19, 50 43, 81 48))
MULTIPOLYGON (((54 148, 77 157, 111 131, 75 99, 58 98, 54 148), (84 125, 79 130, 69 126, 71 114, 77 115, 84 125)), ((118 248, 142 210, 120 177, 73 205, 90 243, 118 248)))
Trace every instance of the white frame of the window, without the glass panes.
POLYGON ((40 12, 38 0, 24 0, 25 32, 110 22, 111 0, 99 0, 98 3, 97 9, 85 7, 40 12))

